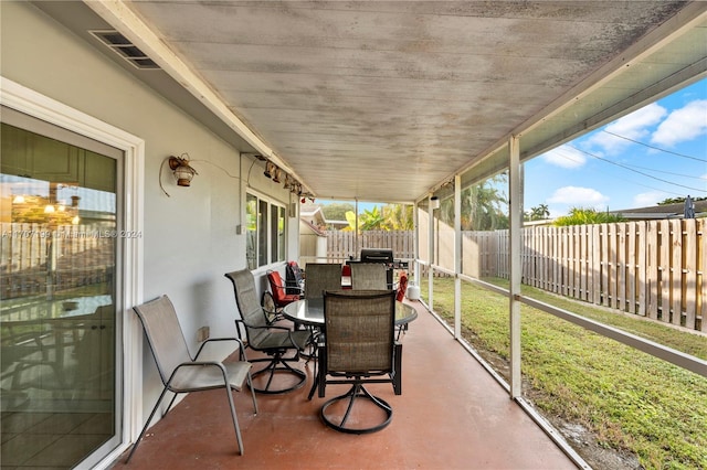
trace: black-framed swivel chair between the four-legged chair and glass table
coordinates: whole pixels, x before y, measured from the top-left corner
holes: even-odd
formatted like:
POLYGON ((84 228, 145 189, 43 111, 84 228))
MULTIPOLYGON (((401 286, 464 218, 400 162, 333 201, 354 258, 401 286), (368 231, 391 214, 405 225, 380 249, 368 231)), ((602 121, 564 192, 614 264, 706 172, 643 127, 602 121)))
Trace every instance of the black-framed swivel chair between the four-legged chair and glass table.
POLYGON ((307 375, 289 365, 291 362, 299 362, 299 353, 306 348, 312 338, 309 331, 293 331, 285 327, 272 325, 267 322, 265 312, 257 301, 255 291, 255 279, 249 269, 228 273, 225 275, 233 282, 235 301, 241 313, 241 318, 235 320, 236 329, 241 334, 240 324, 245 329, 247 348, 254 351, 264 352, 267 357, 252 359, 250 362, 266 362, 264 368, 253 372, 253 378, 266 375, 265 386, 253 389, 264 394, 279 394, 292 392, 304 385, 307 375), (293 355, 286 357, 288 351, 293 355), (295 383, 289 386, 278 386, 273 384, 275 375, 287 374, 295 377, 295 383))

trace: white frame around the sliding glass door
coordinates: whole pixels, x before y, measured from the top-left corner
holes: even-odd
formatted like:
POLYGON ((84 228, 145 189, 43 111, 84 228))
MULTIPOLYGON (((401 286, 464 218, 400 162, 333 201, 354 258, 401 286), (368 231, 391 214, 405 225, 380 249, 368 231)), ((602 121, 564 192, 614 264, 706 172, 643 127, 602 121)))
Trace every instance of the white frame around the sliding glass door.
MULTIPOLYGON (((127 233, 144 234, 145 140, 93 116, 66 106, 33 89, 0 76, 0 103, 34 118, 65 128, 81 136, 115 147, 124 152, 123 188, 120 189, 122 227, 127 233)), ((143 302, 144 241, 143 237, 119 239, 123 266, 123 292, 116 299, 116 313, 122 312, 123 328, 117 367, 122 367, 117 382, 116 403, 122 420, 119 444, 103 455, 94 452, 81 466, 107 468, 130 445, 143 423, 143 337, 141 328, 129 309, 143 302), (120 386, 122 385, 122 386, 120 386)), ((99 449, 101 450, 101 449, 99 449)))

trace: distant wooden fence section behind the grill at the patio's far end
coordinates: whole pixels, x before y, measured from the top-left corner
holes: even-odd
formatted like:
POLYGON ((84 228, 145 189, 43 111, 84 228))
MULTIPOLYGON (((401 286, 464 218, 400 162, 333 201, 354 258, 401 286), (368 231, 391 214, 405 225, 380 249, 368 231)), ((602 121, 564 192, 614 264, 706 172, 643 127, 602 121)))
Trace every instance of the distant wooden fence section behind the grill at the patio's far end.
POLYGON ((358 258, 361 248, 390 248, 395 259, 414 259, 412 231, 365 231, 358 237, 357 248, 355 232, 327 231, 327 259, 339 263, 349 257, 358 258))

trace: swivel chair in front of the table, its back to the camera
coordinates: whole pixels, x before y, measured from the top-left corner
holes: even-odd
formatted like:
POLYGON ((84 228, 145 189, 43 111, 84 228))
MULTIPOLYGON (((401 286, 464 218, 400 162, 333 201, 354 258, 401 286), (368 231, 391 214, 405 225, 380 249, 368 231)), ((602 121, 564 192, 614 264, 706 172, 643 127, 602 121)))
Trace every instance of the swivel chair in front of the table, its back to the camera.
POLYGON ((383 429, 392 419, 392 407, 371 395, 363 384, 391 383, 395 395, 402 393, 402 344, 394 341, 395 292, 327 291, 324 320, 326 340, 319 348, 319 397, 325 396, 329 384, 351 384, 351 388, 321 406, 321 419, 333 429, 348 434, 383 429), (370 419, 365 419, 355 406, 365 408, 361 399, 382 410, 382 419, 367 423, 370 419), (349 424, 351 414, 359 413, 357 424, 349 424))

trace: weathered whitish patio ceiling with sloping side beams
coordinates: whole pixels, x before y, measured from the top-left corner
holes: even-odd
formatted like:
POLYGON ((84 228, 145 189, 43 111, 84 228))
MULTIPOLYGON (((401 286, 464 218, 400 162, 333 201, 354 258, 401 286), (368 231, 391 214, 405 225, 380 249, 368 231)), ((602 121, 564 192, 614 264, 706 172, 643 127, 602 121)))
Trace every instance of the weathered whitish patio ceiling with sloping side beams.
POLYGON ((532 157, 707 71, 707 2, 88 4, 176 79, 152 86, 318 197, 412 201, 500 169, 510 135, 532 157))

